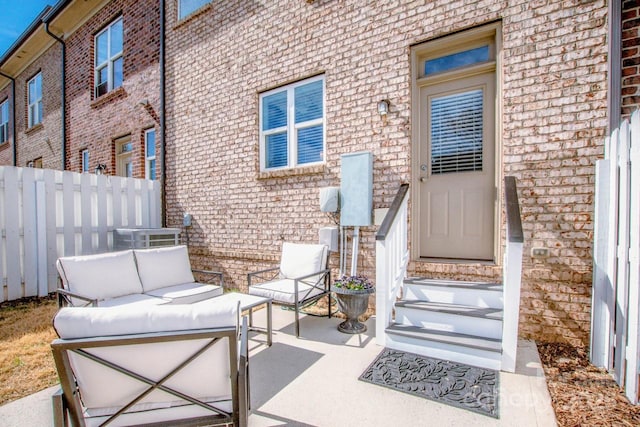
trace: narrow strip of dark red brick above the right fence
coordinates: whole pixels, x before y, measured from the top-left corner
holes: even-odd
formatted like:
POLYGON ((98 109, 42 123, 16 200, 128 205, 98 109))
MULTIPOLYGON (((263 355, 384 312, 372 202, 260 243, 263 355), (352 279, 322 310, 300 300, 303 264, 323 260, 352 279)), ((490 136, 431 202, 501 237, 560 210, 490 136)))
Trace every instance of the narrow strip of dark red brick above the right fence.
POLYGON ((622 115, 640 107, 640 2, 622 2, 622 115))

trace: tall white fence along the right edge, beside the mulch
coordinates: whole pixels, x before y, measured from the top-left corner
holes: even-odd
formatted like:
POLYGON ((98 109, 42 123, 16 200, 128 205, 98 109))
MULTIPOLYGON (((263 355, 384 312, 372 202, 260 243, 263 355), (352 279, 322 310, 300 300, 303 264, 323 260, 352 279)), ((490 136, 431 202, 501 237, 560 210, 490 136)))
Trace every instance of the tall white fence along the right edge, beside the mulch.
POLYGON ((596 164, 591 361, 638 403, 640 375, 640 111, 607 140, 596 164))

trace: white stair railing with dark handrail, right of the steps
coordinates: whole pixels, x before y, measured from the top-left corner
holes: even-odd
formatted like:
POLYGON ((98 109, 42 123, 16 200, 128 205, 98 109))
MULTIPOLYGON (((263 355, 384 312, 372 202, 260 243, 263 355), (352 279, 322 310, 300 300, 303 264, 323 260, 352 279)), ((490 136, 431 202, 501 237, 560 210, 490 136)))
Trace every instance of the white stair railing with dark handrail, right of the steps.
POLYGON ((507 214, 507 246, 503 264, 504 315, 502 319, 501 370, 515 372, 518 348, 518 319, 520 315, 520 287, 522 284, 522 251, 524 236, 516 180, 504 179, 507 214))

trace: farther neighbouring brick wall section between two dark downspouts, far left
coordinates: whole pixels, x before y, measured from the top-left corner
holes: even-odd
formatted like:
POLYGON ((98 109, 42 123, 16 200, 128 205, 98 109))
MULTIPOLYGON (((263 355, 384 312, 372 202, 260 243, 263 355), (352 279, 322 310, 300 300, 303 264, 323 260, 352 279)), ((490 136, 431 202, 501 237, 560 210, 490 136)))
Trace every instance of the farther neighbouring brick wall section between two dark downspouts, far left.
POLYGON ((61 52, 58 43, 52 44, 15 78, 18 166, 42 158, 42 167, 62 168, 61 52), (28 128, 27 83, 38 72, 42 73, 42 123, 28 128))

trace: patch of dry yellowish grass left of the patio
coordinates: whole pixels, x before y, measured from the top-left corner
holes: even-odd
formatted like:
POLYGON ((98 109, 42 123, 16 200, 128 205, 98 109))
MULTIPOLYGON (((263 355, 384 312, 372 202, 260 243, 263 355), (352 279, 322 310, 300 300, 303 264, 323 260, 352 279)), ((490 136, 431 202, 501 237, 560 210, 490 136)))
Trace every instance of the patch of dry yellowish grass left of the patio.
POLYGON ((0 405, 58 383, 50 343, 54 298, 0 304, 0 405))

